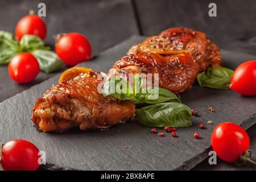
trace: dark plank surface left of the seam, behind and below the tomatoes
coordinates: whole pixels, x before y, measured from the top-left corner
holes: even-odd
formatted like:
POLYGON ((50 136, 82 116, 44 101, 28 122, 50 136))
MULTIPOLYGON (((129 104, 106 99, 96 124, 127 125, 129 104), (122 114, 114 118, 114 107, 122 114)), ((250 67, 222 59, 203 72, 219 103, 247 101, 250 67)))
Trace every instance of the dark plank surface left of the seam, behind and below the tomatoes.
MULTIPOLYGON (((62 32, 85 35, 92 44, 93 55, 138 34, 131 2, 127 0, 0 0, 0 30, 14 33, 18 20, 31 9, 37 12, 40 2, 46 3, 46 44, 53 49, 53 35, 62 32)), ((0 65, 0 102, 54 75, 56 73, 47 75, 41 72, 35 81, 20 85, 11 80, 7 66, 0 65)))

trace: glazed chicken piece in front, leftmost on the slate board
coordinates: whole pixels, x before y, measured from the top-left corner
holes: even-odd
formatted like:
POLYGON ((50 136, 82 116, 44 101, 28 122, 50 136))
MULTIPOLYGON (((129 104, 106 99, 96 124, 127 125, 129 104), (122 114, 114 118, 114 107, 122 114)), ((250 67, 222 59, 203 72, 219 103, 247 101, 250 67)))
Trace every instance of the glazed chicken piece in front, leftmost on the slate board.
POLYGON ((96 72, 90 72, 90 77, 81 74, 49 88, 32 110, 31 119, 36 127, 43 132, 60 132, 72 127, 104 130, 134 117, 133 102, 104 97, 98 92, 102 80, 97 75, 96 72))

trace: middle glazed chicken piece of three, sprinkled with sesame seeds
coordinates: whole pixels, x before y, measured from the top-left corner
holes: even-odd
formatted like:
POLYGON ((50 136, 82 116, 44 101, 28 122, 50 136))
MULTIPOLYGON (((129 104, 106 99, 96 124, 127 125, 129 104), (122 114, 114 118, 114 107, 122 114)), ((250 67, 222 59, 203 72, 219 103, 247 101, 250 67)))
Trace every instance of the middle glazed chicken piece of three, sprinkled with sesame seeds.
MULTIPOLYGON (((177 94, 191 88, 199 71, 199 64, 189 53, 162 56, 135 52, 119 59, 110 69, 109 76, 128 80, 129 73, 158 73, 159 87, 177 94)), ((154 74, 152 76, 154 78, 154 74)))

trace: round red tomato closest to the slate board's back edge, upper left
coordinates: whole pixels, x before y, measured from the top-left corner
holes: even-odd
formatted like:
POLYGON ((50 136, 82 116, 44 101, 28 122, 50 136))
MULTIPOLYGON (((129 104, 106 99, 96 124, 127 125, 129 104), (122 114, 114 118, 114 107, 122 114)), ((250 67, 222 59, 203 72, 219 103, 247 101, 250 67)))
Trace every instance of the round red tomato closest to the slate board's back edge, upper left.
POLYGON ((92 48, 85 36, 69 33, 57 40, 55 52, 69 66, 75 66, 90 59, 92 48))

